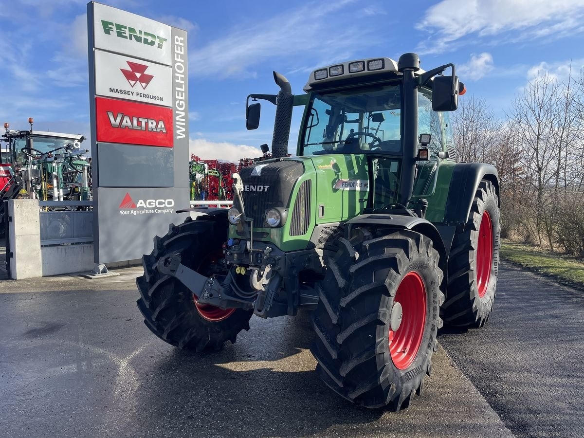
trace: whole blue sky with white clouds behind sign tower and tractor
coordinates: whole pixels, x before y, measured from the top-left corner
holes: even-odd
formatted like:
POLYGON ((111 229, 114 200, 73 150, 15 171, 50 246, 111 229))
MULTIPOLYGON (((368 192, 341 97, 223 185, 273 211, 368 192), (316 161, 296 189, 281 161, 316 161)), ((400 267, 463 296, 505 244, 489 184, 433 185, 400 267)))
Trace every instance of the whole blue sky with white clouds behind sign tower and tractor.
MULTIPOLYGON (((259 155, 273 111, 245 130, 249 93, 277 93, 272 71, 302 93, 312 69, 415 51, 422 68, 454 62, 468 93, 504 116, 513 95, 547 70, 584 66, 584 0, 408 2, 149 1, 103 3, 189 31, 191 150, 203 158, 259 155)), ((89 135, 84 0, 0 0, 0 122, 89 135)), ((298 134, 294 116, 291 147, 298 134)))

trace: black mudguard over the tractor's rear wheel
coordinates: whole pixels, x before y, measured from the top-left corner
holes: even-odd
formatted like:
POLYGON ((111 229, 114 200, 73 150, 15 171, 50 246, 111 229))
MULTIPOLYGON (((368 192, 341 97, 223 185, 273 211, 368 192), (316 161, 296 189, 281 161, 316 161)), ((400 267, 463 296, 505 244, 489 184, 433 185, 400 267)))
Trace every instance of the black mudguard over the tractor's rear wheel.
POLYGON ((499 173, 495 166, 482 163, 460 163, 454 166, 444 211, 444 224, 458 225, 468 222, 472 200, 483 179, 493 183, 499 197, 499 173))

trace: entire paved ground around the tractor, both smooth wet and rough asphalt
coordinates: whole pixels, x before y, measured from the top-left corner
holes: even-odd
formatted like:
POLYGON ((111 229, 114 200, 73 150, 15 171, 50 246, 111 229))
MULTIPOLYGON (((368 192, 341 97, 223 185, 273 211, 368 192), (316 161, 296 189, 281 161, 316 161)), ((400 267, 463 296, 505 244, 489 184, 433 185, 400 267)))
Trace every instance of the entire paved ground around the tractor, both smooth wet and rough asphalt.
POLYGON ((142 323, 140 269, 119 272, 0 281, 0 436, 584 436, 584 293, 505 263, 488 325, 442 335, 397 413, 321 383, 307 313, 183 352, 142 323))

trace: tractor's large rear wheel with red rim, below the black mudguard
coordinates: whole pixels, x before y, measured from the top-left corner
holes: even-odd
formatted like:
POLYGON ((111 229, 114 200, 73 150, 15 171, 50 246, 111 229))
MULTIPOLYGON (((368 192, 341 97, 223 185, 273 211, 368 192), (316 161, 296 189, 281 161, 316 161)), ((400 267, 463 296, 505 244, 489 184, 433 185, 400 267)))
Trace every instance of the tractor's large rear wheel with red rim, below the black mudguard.
POLYGON ((464 231, 454 235, 448 267, 444 323, 485 325, 493 308, 499 274, 499 201, 495 187, 482 180, 464 231))

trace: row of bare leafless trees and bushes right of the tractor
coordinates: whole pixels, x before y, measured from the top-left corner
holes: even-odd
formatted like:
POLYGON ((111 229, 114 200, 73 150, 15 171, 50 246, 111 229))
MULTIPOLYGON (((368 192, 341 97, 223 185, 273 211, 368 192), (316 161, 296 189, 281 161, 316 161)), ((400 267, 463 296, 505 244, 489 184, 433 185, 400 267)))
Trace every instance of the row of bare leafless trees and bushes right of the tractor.
POLYGON ((453 115, 458 159, 499 171, 502 234, 584 256, 584 68, 538 74, 496 119, 484 99, 453 115))

